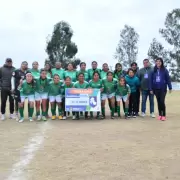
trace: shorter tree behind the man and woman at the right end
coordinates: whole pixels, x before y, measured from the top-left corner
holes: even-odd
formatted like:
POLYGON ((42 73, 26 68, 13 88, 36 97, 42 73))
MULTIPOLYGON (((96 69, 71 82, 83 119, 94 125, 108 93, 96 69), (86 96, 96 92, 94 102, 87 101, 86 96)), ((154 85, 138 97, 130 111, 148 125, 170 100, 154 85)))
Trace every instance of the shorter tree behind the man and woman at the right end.
POLYGON ((168 66, 168 64, 171 62, 169 52, 155 38, 152 40, 152 43, 150 44, 148 50, 148 57, 150 59, 151 64, 154 64, 155 60, 158 57, 163 58, 165 66, 168 66))

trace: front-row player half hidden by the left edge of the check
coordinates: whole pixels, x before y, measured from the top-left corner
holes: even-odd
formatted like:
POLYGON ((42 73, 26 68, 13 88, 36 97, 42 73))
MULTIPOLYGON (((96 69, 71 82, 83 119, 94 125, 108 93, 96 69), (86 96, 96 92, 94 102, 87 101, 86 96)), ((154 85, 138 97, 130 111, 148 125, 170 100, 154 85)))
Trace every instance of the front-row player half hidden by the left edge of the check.
MULTIPOLYGON (((65 91, 67 88, 73 88, 73 83, 71 82, 71 78, 69 76, 65 77, 65 80, 64 80, 64 84, 62 86, 62 96, 63 96, 63 101, 62 101, 62 104, 63 104, 63 111, 64 111, 64 116, 63 116, 63 119, 66 120, 66 111, 65 111, 65 91)), ((73 114, 73 117, 72 119, 76 119, 75 117, 75 112, 72 112, 73 114)))

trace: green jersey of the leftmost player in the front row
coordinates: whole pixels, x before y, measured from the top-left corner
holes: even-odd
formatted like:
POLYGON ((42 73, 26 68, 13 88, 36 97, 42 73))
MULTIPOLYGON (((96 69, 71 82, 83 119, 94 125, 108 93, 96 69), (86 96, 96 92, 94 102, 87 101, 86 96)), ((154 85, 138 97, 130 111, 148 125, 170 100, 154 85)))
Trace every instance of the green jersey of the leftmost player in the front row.
POLYGON ((26 81, 23 81, 19 91, 21 96, 34 95, 35 87, 32 83, 29 84, 26 81))

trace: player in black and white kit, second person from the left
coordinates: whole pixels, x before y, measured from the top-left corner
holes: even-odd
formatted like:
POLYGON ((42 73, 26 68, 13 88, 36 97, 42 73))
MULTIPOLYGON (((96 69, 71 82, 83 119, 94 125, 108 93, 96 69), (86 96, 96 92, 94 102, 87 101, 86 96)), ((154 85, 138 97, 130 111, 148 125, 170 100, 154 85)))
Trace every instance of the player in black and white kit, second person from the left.
POLYGON ((28 69, 28 63, 26 61, 23 61, 21 63, 21 68, 20 69, 16 69, 12 73, 11 90, 14 93, 14 97, 15 97, 15 111, 16 111, 17 118, 18 118, 18 103, 21 101, 20 100, 20 92, 18 90, 18 86, 19 86, 20 80, 24 80, 25 79, 26 73, 27 73, 27 69, 28 69))

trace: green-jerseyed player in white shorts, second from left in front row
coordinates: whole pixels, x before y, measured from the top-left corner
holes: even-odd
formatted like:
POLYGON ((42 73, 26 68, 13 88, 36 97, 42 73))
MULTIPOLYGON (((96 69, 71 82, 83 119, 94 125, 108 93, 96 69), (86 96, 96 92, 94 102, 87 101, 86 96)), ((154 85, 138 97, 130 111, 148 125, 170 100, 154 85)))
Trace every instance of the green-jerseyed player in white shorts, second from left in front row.
POLYGON ((47 78, 47 73, 44 69, 41 70, 40 78, 35 80, 35 101, 36 101, 36 116, 37 120, 41 120, 40 105, 42 105, 42 120, 46 121, 47 116, 47 99, 49 84, 51 79, 47 78), (42 103, 42 104, 41 104, 42 103))

